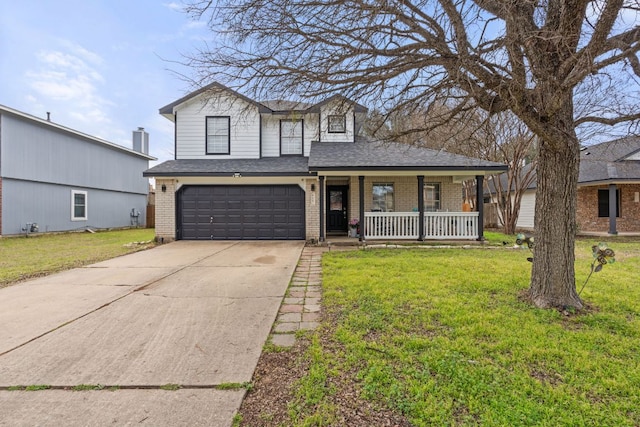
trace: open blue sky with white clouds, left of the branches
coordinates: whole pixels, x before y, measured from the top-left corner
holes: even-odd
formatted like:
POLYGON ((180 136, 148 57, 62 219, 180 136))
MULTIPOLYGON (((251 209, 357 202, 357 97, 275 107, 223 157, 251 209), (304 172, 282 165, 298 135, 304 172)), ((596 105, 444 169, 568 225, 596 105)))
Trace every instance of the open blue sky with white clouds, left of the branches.
POLYGON ((173 159, 173 123, 158 109, 193 88, 180 64, 211 39, 180 0, 0 0, 0 104, 173 159))

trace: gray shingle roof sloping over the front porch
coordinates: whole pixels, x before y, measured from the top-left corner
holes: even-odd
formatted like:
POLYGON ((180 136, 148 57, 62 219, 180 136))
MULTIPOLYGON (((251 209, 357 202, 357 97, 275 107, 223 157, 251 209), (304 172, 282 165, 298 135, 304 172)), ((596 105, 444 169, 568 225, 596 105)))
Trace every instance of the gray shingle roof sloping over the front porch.
POLYGON ((311 144, 309 170, 494 170, 507 166, 472 157, 392 142, 311 144))

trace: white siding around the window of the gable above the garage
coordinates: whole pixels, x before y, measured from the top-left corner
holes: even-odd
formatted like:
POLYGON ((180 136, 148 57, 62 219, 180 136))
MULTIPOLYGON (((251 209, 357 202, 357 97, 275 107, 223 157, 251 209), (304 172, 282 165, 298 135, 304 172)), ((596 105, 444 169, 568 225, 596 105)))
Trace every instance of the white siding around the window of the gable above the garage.
POLYGON ((203 95, 176 109, 176 159, 257 159, 260 157, 258 108, 239 98, 203 95), (229 154, 207 153, 207 116, 229 117, 229 154))

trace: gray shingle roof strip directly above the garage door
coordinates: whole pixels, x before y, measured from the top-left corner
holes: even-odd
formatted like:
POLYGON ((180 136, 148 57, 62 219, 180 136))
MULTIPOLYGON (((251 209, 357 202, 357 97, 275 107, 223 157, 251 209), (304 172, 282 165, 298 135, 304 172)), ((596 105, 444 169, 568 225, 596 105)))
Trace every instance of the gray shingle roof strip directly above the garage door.
POLYGON ((262 159, 169 160, 144 172, 144 176, 308 176, 306 157, 262 159))

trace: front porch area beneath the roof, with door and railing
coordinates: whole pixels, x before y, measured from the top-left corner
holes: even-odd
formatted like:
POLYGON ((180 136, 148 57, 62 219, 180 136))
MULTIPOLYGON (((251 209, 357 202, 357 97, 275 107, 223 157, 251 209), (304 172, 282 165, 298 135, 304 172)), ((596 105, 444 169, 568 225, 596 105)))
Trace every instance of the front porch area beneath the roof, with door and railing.
MULTIPOLYGON (((482 175, 319 175, 320 241, 483 240, 483 212, 462 202, 462 181, 482 175)), ((482 195, 482 191, 477 192, 482 195)))

